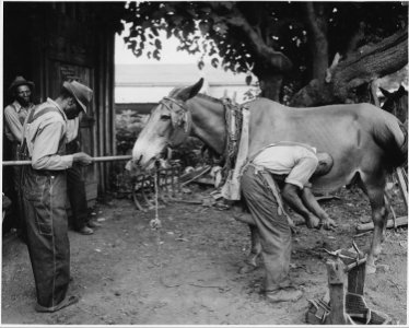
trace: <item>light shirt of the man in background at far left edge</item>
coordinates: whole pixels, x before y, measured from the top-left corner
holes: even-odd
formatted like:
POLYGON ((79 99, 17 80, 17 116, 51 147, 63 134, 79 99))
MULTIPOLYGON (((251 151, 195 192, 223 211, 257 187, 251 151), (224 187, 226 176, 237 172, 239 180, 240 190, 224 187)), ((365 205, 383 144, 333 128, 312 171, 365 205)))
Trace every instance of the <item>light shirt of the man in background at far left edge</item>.
POLYGON ((24 120, 33 108, 34 104, 23 107, 17 101, 4 108, 4 133, 11 142, 23 141, 24 120))

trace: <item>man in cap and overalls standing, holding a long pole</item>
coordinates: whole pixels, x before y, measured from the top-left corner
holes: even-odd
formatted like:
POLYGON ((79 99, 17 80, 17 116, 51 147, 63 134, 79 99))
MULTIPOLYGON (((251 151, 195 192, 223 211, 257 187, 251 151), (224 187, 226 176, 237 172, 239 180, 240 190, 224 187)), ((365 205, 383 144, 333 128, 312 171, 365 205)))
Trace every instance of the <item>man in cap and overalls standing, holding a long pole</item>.
POLYGON ((23 169, 23 203, 27 247, 36 285, 37 312, 56 312, 77 303, 68 296, 70 244, 66 212, 66 171, 73 163, 89 165, 85 153, 66 155, 67 120, 92 99, 92 90, 65 82, 60 95, 36 106, 24 124, 22 152, 32 161, 23 169))

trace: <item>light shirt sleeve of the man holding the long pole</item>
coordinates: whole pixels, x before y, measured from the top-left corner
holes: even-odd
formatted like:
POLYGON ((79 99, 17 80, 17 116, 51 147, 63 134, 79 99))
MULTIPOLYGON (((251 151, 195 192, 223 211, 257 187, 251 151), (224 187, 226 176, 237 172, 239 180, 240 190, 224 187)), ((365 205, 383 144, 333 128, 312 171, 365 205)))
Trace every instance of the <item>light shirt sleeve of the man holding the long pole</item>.
POLYGON ((72 155, 58 155, 60 137, 65 133, 62 121, 42 125, 35 136, 32 166, 35 169, 67 169, 72 166, 72 155))

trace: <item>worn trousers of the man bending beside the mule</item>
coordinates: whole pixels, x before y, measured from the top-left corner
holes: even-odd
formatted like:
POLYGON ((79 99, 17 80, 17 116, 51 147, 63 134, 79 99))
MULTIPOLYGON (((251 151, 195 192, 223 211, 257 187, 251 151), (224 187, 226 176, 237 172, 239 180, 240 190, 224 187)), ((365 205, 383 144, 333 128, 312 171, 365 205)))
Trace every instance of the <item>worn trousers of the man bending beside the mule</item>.
POLYGON ((287 216, 279 214, 279 204, 268 181, 267 172, 253 165, 242 175, 242 192, 256 223, 261 243, 261 257, 266 269, 265 290, 274 291, 290 284, 291 229, 287 216))

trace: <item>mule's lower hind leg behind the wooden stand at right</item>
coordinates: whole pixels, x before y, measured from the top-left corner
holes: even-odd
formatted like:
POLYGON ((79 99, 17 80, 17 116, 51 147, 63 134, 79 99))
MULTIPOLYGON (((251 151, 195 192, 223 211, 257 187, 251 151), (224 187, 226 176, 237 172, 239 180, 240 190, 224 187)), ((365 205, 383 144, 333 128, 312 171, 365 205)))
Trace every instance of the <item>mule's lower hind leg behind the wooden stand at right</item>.
POLYGON ((372 209, 372 221, 374 223, 374 234, 366 260, 366 273, 371 274, 376 271, 375 260, 382 250, 382 242, 384 241, 384 233, 388 219, 388 209, 384 201, 384 189, 369 190, 369 197, 372 209))

